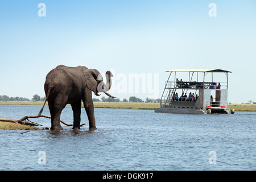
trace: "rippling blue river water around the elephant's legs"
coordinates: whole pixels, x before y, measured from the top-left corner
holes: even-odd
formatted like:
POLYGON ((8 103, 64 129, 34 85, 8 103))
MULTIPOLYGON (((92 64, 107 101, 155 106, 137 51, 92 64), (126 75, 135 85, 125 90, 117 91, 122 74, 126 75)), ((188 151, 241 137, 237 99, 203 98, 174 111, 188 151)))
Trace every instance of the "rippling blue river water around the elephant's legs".
MULTIPOLYGON (((41 107, 0 105, 0 118, 36 115, 41 107)), ((0 170, 256 170, 256 112, 94 111, 95 131, 88 130, 84 109, 79 131, 65 125, 61 131, 0 130, 0 170)), ((73 122, 71 106, 61 119, 73 122)), ((31 121, 51 127, 47 118, 31 121)))

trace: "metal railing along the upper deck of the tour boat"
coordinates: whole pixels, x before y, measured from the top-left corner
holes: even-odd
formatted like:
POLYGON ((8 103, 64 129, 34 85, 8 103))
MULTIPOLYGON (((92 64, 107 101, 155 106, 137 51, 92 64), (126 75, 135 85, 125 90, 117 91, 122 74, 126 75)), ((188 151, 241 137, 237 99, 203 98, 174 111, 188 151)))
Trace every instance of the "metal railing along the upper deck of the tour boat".
POLYGON ((166 89, 228 89, 226 82, 166 81, 166 89))

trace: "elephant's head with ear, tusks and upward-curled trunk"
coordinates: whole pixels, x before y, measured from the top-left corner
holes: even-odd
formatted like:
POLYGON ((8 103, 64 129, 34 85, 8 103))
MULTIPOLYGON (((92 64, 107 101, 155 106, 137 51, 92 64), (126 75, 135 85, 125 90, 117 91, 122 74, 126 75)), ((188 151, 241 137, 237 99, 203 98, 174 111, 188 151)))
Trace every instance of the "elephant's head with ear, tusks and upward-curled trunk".
POLYGON ((110 71, 106 72, 106 84, 103 82, 103 77, 97 69, 88 69, 88 71, 85 72, 85 77, 87 88, 92 90, 96 96, 101 95, 98 94, 98 92, 104 92, 107 96, 116 98, 108 93, 108 90, 112 85, 111 77, 113 77, 110 71))

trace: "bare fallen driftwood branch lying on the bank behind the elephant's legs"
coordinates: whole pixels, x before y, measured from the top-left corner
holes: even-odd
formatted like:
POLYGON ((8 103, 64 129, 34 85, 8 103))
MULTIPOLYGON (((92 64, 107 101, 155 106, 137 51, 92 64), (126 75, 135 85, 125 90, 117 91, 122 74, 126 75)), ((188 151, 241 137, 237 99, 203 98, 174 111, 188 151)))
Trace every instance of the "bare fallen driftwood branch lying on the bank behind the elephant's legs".
MULTIPOLYGON (((39 117, 44 117, 44 118, 50 118, 51 119, 50 116, 41 114, 41 115, 26 115, 23 118, 18 119, 18 120, 17 119, 10 119, 10 118, 0 118, 0 121, 12 122, 12 123, 21 124, 21 125, 34 125, 34 126, 36 126, 36 125, 39 125, 39 124, 35 123, 35 122, 31 122, 28 118, 39 118, 39 117), (26 120, 28 120, 29 122, 27 122, 26 120)), ((60 122, 63 123, 64 125, 67 125, 67 126, 73 126, 69 123, 64 122, 61 119, 60 119, 60 122)), ((83 126, 83 125, 85 125, 85 124, 82 124, 80 126, 83 126)), ((42 125, 40 125, 40 126, 42 126, 42 125)))

